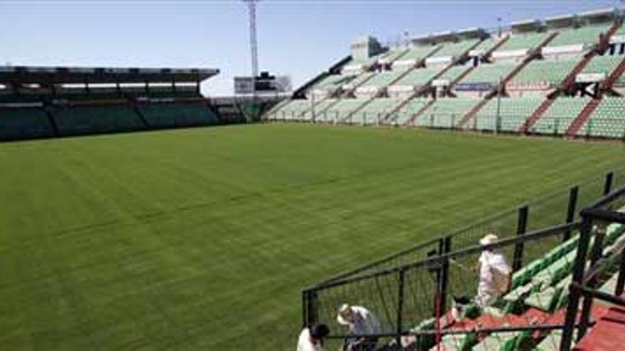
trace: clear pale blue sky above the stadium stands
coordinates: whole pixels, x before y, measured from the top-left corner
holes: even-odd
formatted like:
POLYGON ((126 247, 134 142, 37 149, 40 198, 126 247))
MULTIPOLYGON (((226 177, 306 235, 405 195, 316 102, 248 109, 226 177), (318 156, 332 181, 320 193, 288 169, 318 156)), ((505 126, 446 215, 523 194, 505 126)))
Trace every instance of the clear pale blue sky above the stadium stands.
MULTIPOLYGON (((469 27, 494 28, 619 6, 617 0, 303 1, 258 5, 262 70, 288 74, 297 87, 348 55, 360 35, 381 41, 469 27)), ((0 64, 216 67, 205 94, 232 94, 249 74, 246 7, 228 1, 0 0, 0 64)))

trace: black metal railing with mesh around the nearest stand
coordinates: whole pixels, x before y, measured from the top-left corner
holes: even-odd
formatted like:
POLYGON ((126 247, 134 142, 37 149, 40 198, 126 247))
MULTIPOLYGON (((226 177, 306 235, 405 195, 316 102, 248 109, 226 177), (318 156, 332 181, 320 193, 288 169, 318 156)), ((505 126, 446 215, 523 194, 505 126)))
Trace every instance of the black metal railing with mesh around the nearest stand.
MULTIPOLYGON (((607 223, 625 223, 624 214, 612 211, 615 206, 618 208, 625 206, 625 188, 597 201, 600 196, 610 194, 614 186, 624 186, 625 184, 622 184, 625 182, 624 178, 623 174, 615 175, 611 172, 601 179, 591 179, 567 191, 559 191, 531 201, 527 205, 499 213, 455 233, 428 240, 408 250, 310 286, 303 291, 303 324, 326 323, 330 325, 330 340, 341 342, 348 335, 335 323, 337 308, 342 303, 350 303, 366 306, 378 316, 382 329, 376 336, 384 340, 383 342, 405 344, 405 339, 410 336, 413 342, 420 345, 418 349, 431 347, 432 335, 435 332, 431 325, 430 328, 420 328, 419 323, 433 317, 437 317, 435 318, 439 321, 437 323, 442 323, 441 318, 447 314, 452 305, 452 296, 475 295, 479 277, 470 267, 477 262, 485 248, 477 245, 478 239, 491 232, 497 233, 500 240, 486 248, 499 250, 510 263, 514 274, 522 274, 526 266, 531 267, 532 264, 544 260, 545 257, 552 255, 554 250, 559 250, 567 243, 575 243, 577 245, 575 250, 571 249, 567 255, 558 259, 560 268, 553 272, 550 269, 543 269, 541 279, 545 279, 545 286, 568 284, 570 281, 574 285, 577 284, 577 295, 573 293, 575 289, 571 288, 570 304, 567 306, 577 311, 577 304, 572 306, 571 303, 580 301, 582 297, 589 299, 588 291, 593 287, 583 285, 587 282, 584 280, 585 276, 580 274, 585 272, 587 262, 591 267, 595 267, 594 264, 597 262, 604 262, 599 260, 603 258, 601 255, 595 257, 595 254, 593 256, 588 254, 591 243, 594 245, 592 252, 596 253, 602 248, 602 246, 597 248, 597 245, 601 245, 603 240, 600 232, 595 233, 589 229, 587 217, 589 213, 594 213, 595 216, 604 216, 607 223), (580 208, 586 209, 578 214, 580 208), (588 208, 595 209, 589 212, 588 208), (609 215, 605 208, 610 209, 609 215), (621 220, 622 222, 619 222, 621 220), (581 235, 578 235, 579 233, 581 235)), ((568 247, 572 248, 575 245, 568 247)), ((625 242, 623 245, 625 246, 625 242)), ((621 269, 625 270, 625 254, 622 252, 622 248, 619 248, 618 253, 621 255, 619 257, 622 257, 621 269)), ((618 286, 622 292, 625 274, 621 275, 618 286)), ((513 281, 515 279, 513 278, 513 281)), ((565 289, 568 289, 568 286, 560 287, 560 291, 565 289)), ((601 298, 601 294, 603 293, 599 291, 593 296, 601 298)), ((506 311, 509 309, 523 316, 523 308, 519 309, 514 303, 509 301, 504 306, 506 311)), ((588 328, 594 321, 591 318, 582 318, 579 324, 575 324, 573 318, 567 320, 567 323, 570 323, 569 327, 580 330, 578 335, 583 335, 584 328, 588 328)), ((436 335, 437 338, 441 338, 443 335, 506 331, 498 328, 499 326, 459 330, 443 325, 442 328, 438 328, 436 335)), ((508 331, 562 330, 565 323, 548 323, 547 320, 537 323, 528 317, 525 323, 516 323, 506 328, 509 328, 508 331)))

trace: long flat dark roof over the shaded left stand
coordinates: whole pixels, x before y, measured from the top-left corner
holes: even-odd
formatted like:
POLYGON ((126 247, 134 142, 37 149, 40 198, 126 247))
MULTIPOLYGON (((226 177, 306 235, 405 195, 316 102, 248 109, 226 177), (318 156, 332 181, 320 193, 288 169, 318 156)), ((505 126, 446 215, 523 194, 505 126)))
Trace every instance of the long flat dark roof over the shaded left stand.
POLYGON ((219 69, 0 66, 0 82, 21 84, 202 82, 216 74, 219 69))

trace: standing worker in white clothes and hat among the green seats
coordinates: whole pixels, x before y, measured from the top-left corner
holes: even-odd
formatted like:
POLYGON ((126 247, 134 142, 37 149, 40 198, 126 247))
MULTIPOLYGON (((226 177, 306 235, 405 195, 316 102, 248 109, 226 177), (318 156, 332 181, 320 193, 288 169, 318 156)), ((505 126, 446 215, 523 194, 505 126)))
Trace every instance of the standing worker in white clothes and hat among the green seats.
MULTIPOLYGON (((487 234, 479 240, 482 246, 496 243, 499 240, 497 235, 487 234)), ((510 289, 512 269, 506 262, 501 252, 492 249, 485 249, 479 256, 477 264, 479 272, 479 284, 477 286, 476 302, 479 306, 491 306, 499 296, 505 294, 510 289)))

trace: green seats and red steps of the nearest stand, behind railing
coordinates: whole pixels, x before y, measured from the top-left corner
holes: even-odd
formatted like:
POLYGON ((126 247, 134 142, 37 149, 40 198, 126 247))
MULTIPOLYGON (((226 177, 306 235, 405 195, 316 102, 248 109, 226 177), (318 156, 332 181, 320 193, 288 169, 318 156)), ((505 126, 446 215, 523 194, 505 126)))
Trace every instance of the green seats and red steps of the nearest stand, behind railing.
MULTIPOLYGON (((618 247, 625 243, 625 225, 613 223, 607 228, 604 238, 605 257, 618 252, 618 247)), ((489 328, 523 328, 531 325, 563 325, 567 311, 568 289, 572 279, 572 266, 577 255, 579 235, 553 247, 543 257, 539 257, 513 274, 511 291, 504 296, 503 301, 497 303, 500 307, 487 307, 479 316, 466 316, 460 321, 454 321, 450 313, 440 318, 440 328, 452 331, 442 337, 440 342, 430 339, 430 350, 445 351, 513 351, 513 350, 559 350, 561 330, 553 331, 499 331, 494 333, 480 332, 479 329, 489 328), (555 291, 555 292, 554 292, 555 291), (504 302, 505 301, 505 302, 504 302), (511 304, 516 304, 511 308, 511 304), (438 345, 440 344, 440 345, 438 345), (536 346, 534 346, 536 345, 536 346)), ((592 240, 594 242, 594 240, 592 240)), ((592 246, 592 243, 591 243, 592 246)), ((614 290, 613 276, 602 289, 614 290)), ((594 303, 591 310, 592 319, 605 321, 609 315, 610 306, 604 303, 594 303)), ((479 313, 479 312, 478 312, 479 313)), ((622 325, 619 331, 625 331, 625 311, 621 311, 622 325), (624 328, 624 329, 620 329, 624 328)), ((470 313, 472 314, 472 313, 470 313)), ((579 317, 578 317, 579 318, 579 317)), ((431 320, 420 323, 415 330, 435 328, 431 320)), ((599 324, 597 325, 599 326, 599 324)), ((595 327, 597 328, 597 327, 595 327)), ((614 328, 607 326, 605 328, 614 328)), ((612 332, 614 333, 614 329, 612 332)), ((624 338, 625 338, 625 333, 624 338)), ((589 335, 587 338, 592 340, 589 335)), ((623 343, 619 345, 624 345, 623 343)), ((592 342, 589 342, 592 345, 592 342)), ((584 346, 583 343, 577 347, 584 346)), ((586 349, 592 350, 620 350, 619 348, 586 349)))

